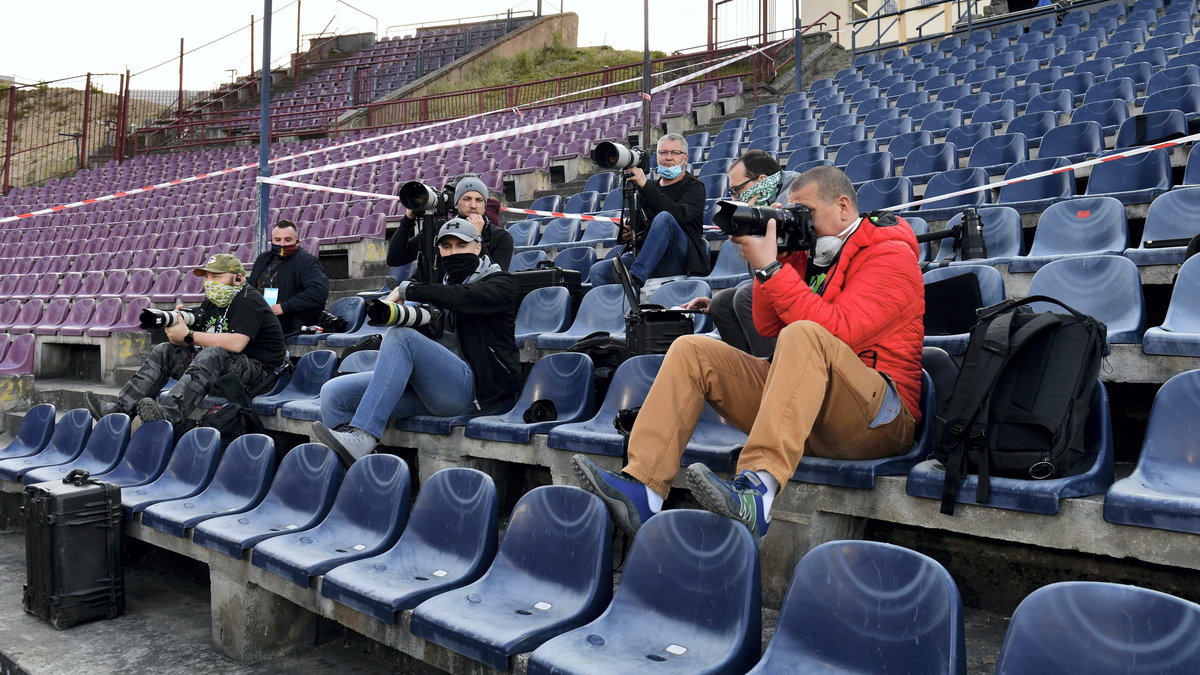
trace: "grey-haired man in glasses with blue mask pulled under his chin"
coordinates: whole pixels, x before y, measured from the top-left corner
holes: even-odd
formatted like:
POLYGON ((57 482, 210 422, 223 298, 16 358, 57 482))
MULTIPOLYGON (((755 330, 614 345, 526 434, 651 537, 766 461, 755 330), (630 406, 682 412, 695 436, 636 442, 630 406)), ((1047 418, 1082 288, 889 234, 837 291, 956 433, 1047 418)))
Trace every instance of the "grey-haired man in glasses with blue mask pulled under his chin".
MULTIPOLYGON (((649 157, 641 162, 635 160, 640 166, 629 167, 619 161, 598 161, 600 166, 607 165, 606 168, 625 168, 626 190, 637 192, 641 215, 626 214, 619 234, 619 255, 638 288, 650 277, 703 276, 712 269, 704 241, 704 184, 685 171, 688 142, 684 137, 667 133, 660 138, 658 162, 658 180, 650 180, 647 177, 649 157)), ((616 283, 611 259, 592 265, 589 275, 593 286, 616 283)))

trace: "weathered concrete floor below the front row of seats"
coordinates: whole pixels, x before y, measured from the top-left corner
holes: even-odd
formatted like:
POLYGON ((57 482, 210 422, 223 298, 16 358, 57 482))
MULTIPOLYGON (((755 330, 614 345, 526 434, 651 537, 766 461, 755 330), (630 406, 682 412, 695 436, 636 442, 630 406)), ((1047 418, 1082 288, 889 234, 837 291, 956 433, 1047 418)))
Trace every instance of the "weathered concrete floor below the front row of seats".
MULTIPOLYGON (((209 647, 209 589, 202 571, 172 571, 162 560, 134 558, 125 569, 124 616, 55 631, 20 607, 24 534, 0 534, 0 674, 342 675, 426 670, 424 664, 406 662, 397 652, 332 625, 326 627, 324 644, 299 655, 252 665, 234 663, 209 647)), ((776 615, 770 610, 764 615, 766 633, 770 633, 776 615)), ((971 675, 994 673, 1007 625, 1007 616, 967 610, 971 675)))

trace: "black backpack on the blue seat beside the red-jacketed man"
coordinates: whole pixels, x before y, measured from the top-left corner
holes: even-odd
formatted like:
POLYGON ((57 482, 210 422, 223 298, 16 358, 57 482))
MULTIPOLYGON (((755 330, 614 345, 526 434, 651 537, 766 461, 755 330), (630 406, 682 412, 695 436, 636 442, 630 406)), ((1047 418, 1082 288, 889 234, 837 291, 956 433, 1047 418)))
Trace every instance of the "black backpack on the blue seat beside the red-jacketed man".
POLYGON ((1044 295, 979 310, 934 456, 946 467, 942 513, 954 513, 959 479, 979 476, 976 501, 990 498, 991 476, 1069 476, 1084 455, 1084 431, 1108 329, 1044 295), (1032 312, 1045 301, 1067 313, 1032 312))

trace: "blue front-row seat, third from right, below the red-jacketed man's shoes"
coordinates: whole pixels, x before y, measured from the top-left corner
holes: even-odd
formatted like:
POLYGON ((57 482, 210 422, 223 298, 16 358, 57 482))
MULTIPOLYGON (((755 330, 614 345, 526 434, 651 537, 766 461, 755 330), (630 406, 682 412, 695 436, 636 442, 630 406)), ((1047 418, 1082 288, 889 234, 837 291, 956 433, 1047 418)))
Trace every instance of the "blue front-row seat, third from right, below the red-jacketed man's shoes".
POLYGON ((758 550, 731 519, 696 509, 649 519, 612 604, 529 657, 530 675, 745 673, 762 643, 758 550), (647 663, 648 662, 648 663, 647 663))

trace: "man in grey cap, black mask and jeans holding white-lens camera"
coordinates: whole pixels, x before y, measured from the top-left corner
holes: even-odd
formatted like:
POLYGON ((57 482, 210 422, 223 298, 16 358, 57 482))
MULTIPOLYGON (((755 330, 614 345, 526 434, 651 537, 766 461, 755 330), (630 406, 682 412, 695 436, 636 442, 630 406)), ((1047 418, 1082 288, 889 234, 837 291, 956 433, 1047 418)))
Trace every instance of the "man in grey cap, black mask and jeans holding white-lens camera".
POLYGON ((391 418, 496 412, 521 388, 516 281, 464 219, 446 221, 436 245, 438 282, 406 281, 367 309, 373 325, 391 327, 374 371, 320 388, 313 437, 347 465, 374 450, 391 418))

